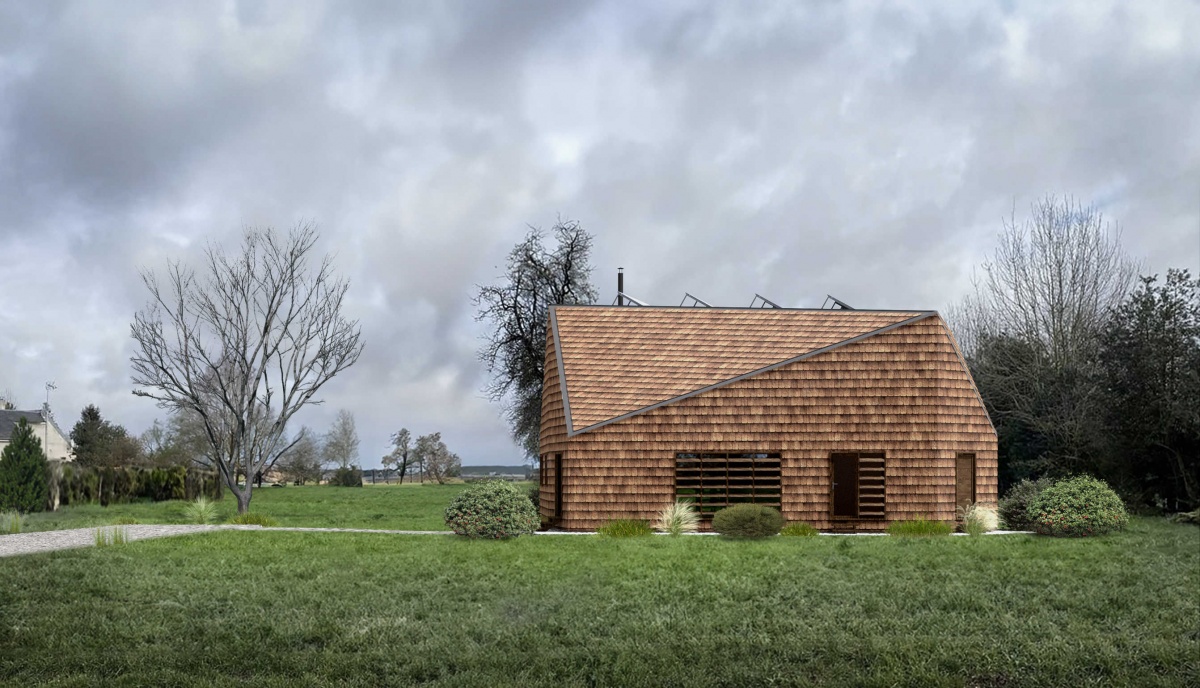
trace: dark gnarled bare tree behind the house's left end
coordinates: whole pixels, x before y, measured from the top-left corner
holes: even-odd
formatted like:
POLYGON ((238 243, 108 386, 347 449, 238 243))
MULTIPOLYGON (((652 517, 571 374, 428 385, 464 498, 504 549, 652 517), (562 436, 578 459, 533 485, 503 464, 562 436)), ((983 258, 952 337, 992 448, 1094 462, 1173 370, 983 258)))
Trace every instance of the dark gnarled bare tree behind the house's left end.
POLYGON ((504 402, 512 438, 530 462, 538 461, 541 432, 541 388, 546 364, 546 319, 550 306, 590 304, 592 235, 578 222, 559 220, 552 229, 558 245, 547 251, 544 234, 529 234, 509 253, 504 282, 479 287, 475 319, 492 325, 480 360, 492 373, 486 388, 492 401, 504 402))

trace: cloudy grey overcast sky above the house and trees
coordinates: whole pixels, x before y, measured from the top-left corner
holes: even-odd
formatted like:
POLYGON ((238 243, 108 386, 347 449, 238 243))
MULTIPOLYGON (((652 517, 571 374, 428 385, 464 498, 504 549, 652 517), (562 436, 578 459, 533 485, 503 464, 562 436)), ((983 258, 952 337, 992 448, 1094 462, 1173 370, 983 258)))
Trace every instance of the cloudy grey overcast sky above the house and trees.
POLYGON ((142 268, 316 222, 365 466, 401 426, 517 463, 474 285, 578 220, 594 282, 943 310, 1001 221, 1094 203, 1200 273, 1200 4, 0 0, 0 391, 133 432, 142 268))

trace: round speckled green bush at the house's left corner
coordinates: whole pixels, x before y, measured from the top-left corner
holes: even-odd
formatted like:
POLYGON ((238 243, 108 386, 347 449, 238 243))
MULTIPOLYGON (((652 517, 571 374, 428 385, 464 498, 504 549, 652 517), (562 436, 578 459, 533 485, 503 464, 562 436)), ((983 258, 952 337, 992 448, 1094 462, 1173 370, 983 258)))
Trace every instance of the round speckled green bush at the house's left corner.
POLYGON ((529 495, 503 480, 475 483, 458 492, 445 516, 450 530, 468 538, 515 538, 541 525, 529 495))

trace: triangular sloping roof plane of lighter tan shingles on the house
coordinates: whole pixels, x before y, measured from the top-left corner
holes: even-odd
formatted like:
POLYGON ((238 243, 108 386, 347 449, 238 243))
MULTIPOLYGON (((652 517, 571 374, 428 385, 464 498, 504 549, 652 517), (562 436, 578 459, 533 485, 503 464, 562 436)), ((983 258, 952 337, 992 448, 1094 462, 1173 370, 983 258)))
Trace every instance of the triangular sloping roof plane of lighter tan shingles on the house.
POLYGON ((554 306, 574 432, 931 315, 924 311, 554 306))

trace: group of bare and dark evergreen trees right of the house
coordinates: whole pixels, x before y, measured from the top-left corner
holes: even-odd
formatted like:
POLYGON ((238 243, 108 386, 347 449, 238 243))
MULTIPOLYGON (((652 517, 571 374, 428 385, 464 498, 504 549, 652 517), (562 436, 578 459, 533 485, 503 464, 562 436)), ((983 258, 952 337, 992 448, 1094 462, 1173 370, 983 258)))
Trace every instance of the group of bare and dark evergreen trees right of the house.
POLYGON ((1133 507, 1200 507, 1200 281, 1140 271, 1092 207, 1046 198, 1004 222, 950 312, 1002 492, 1090 473, 1133 507))

